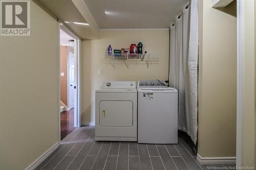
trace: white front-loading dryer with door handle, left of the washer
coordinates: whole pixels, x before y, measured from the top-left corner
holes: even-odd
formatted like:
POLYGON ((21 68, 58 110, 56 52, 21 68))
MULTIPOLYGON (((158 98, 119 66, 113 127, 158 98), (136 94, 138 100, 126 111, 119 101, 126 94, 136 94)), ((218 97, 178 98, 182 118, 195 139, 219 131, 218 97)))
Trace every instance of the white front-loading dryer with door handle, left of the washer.
POLYGON ((137 141, 135 82, 104 82, 95 102, 95 140, 137 141))

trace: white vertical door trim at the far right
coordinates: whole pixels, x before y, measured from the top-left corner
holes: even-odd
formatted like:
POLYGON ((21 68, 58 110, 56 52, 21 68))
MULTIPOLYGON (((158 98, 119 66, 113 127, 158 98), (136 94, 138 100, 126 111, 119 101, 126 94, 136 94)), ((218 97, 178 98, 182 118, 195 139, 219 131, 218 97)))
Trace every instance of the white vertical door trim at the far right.
POLYGON ((244 0, 237 0, 237 152, 236 164, 242 166, 243 75, 244 75, 244 0))

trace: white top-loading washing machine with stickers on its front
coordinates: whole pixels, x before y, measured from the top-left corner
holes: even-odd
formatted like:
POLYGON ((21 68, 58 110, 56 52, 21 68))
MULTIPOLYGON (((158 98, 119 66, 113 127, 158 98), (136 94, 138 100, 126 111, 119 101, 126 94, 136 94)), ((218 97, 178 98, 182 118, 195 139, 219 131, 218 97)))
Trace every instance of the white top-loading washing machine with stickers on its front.
POLYGON ((138 143, 178 143, 178 91, 164 81, 139 81, 138 143))

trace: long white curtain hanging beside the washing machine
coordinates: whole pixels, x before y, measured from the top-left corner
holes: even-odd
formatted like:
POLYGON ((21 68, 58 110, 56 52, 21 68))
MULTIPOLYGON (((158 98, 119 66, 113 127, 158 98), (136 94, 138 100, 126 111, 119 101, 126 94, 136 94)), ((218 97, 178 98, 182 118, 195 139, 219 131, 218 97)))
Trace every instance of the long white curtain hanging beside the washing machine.
POLYGON ((196 144, 198 112, 198 0, 170 25, 169 86, 179 91, 178 128, 196 144))

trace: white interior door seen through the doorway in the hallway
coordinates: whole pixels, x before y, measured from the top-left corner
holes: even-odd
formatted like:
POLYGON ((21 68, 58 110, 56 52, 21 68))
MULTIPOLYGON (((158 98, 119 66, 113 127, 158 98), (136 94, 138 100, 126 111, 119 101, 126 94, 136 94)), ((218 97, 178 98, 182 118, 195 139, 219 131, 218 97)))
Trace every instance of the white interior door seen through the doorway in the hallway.
POLYGON ((75 57, 69 52, 69 109, 74 108, 75 102, 75 57))

